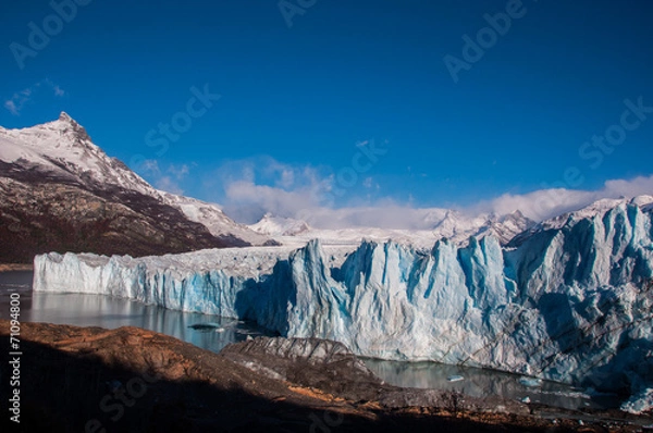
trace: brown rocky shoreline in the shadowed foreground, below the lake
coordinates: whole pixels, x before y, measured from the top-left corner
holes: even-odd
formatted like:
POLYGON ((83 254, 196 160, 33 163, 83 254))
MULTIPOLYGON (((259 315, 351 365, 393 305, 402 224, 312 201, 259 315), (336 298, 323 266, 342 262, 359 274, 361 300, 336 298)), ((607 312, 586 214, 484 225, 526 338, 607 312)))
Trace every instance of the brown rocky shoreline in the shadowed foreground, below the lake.
MULTIPOLYGON (((3 339, 9 330, 0 320, 3 339)), ((24 431, 638 432, 653 424, 619 411, 390 386, 342 344, 312 338, 260 337, 217 355, 137 327, 23 323, 21 345, 24 431)), ((11 375, 9 360, 2 378, 11 375)), ((3 401, 7 392, 3 383, 3 401)))

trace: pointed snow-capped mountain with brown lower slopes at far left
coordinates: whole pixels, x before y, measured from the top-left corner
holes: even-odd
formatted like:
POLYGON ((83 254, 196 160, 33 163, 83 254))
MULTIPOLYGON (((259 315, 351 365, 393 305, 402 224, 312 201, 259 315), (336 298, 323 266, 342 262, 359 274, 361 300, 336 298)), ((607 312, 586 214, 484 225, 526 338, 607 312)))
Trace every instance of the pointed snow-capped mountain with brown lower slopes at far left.
POLYGON ((214 205, 157 190, 65 112, 0 128, 0 242, 22 244, 22 252, 0 250, 3 260, 47 250, 141 255, 271 243, 214 205))

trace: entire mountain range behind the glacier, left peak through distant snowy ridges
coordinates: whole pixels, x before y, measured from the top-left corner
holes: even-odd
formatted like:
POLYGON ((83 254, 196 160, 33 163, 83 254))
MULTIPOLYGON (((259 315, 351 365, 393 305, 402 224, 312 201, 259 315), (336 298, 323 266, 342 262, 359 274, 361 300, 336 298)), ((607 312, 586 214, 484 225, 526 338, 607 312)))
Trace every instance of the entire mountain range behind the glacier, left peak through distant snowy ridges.
MULTIPOLYGON (((11 253, 2 249, 0 262, 28 262, 30 255, 48 252, 48 248, 60 252, 140 256, 225 246, 303 246, 312 238, 326 245, 349 246, 364 239, 393 239, 429 249, 442 238, 466 245, 472 237, 492 235, 502 246, 515 246, 539 230, 564 224, 565 219, 574 214, 568 212, 535 223, 519 210, 470 215, 452 209, 432 209, 424 214, 424 230, 319 228, 312 226, 310 220, 270 213, 255 224, 239 224, 224 214, 219 205, 153 188, 122 161, 95 145, 87 131, 65 112, 52 122, 30 127, 7 129, 0 126, 0 240, 13 245, 14 251, 23 251, 11 253), (75 218, 67 215, 71 221, 66 221, 57 200, 66 202, 71 198, 86 203, 88 209, 72 207, 75 218), (94 210, 103 211, 91 215, 94 210), (135 232, 128 221, 139 218, 143 221, 134 225, 139 227, 135 232), (84 234, 69 242, 66 233, 79 232, 75 224, 82 225, 84 234), (51 233, 50 225, 59 233, 51 233), (121 231, 140 244, 121 236, 121 231)), ((652 201, 645 205, 653 206, 652 201)), ((588 212, 592 206, 614 202, 613 199, 600 200, 583 209, 588 212)))

